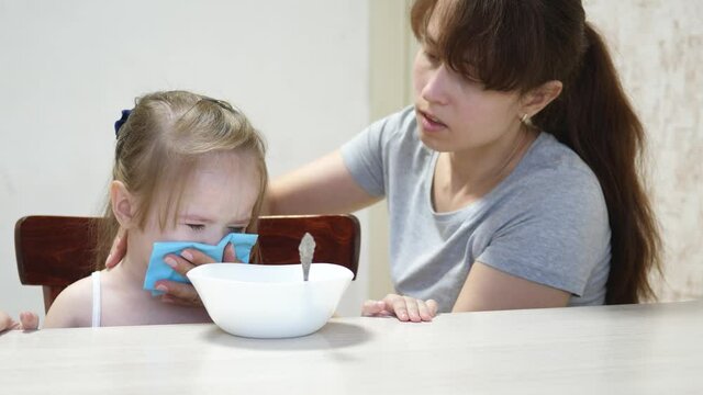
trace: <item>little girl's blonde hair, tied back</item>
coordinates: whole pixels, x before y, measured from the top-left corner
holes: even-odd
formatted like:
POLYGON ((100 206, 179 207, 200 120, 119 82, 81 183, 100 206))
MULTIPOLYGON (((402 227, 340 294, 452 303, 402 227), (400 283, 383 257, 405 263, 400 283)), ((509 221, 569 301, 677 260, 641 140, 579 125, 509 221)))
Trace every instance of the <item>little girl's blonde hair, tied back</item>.
MULTIPOLYGON (((119 126, 112 180, 121 181, 138 199, 134 219, 141 228, 157 194, 167 191, 158 215, 161 229, 174 225, 181 194, 197 162, 207 154, 250 155, 259 176, 259 194, 247 232, 256 232, 268 183, 261 135, 227 102, 186 91, 155 92, 137 98, 126 122, 119 126)), ((235 191, 232 191, 235 193, 235 191)), ((96 267, 104 268, 118 223, 110 200, 97 229, 96 267)))

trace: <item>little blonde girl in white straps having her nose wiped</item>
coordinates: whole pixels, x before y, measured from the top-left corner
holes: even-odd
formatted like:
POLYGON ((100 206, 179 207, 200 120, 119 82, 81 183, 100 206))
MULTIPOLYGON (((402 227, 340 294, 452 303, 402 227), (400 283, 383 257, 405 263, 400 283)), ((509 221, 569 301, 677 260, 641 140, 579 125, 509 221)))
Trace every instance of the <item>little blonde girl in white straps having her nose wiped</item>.
POLYGON ((152 247, 216 245, 230 233, 255 227, 267 184, 261 136, 230 104, 182 91, 138 99, 115 128, 98 261, 104 262, 119 227, 129 230, 130 250, 115 269, 62 292, 44 327, 210 321, 202 306, 163 303, 143 289, 152 247))

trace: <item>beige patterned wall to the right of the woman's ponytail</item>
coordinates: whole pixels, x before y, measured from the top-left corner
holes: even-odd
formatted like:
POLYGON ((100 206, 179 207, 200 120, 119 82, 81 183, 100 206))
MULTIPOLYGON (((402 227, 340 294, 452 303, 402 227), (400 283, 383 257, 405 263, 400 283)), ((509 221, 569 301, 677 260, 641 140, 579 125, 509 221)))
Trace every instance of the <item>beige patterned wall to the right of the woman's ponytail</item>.
POLYGON ((703 1, 588 0, 648 137, 665 242, 660 301, 703 297, 703 1))

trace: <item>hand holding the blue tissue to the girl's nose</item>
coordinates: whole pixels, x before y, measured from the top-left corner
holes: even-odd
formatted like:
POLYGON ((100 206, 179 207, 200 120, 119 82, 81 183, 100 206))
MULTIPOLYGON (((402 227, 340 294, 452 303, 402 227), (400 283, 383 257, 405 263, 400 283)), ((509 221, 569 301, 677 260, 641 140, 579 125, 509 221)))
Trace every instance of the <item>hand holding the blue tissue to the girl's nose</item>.
MULTIPOLYGON (((224 248, 224 262, 239 262, 234 253, 234 246, 231 242, 224 248)), ((197 249, 186 249, 180 256, 170 253, 164 258, 164 262, 175 271, 186 276, 190 269, 204 263, 212 263, 214 260, 197 249)), ((166 292, 161 295, 161 302, 179 304, 182 306, 202 306, 202 301, 191 284, 176 281, 161 280, 156 282, 158 291, 166 292)))

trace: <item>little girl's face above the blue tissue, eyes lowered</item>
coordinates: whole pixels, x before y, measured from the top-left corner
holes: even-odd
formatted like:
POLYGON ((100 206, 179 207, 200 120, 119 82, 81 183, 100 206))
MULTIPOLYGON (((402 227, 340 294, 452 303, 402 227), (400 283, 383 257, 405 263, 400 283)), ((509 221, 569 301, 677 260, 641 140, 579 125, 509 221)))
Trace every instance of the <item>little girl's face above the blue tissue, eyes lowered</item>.
MULTIPOLYGON (((138 259, 148 260, 155 241, 196 241, 216 245, 230 233, 242 233, 248 225, 259 194, 259 178, 249 154, 209 154, 199 160, 185 185, 176 225, 159 226, 166 207, 166 193, 156 198, 143 230, 130 240, 138 259), (136 240, 138 246, 133 246, 136 240)), ((169 213, 169 218, 171 212, 169 213)), ((132 234, 132 230, 130 230, 132 234)))

